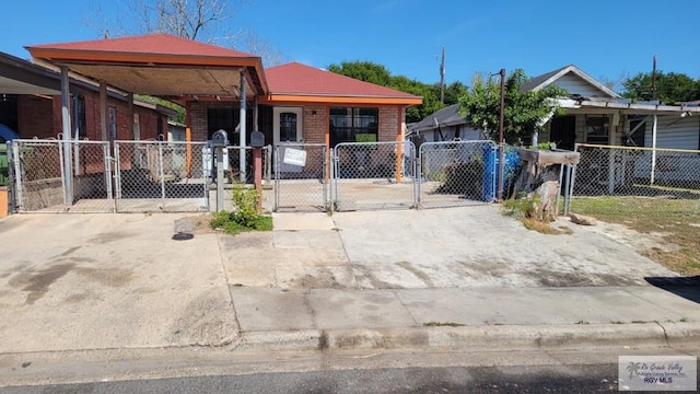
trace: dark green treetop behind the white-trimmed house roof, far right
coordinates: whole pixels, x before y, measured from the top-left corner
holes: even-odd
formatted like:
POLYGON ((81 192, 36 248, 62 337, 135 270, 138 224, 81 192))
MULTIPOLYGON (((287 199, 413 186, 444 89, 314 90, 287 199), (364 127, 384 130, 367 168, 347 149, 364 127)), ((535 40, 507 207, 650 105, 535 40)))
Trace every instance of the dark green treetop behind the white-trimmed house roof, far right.
MULTIPOLYGON (((622 96, 635 101, 653 100, 652 73, 640 72, 622 82, 622 96)), ((664 104, 700 100, 700 80, 676 72, 656 73, 656 99, 664 104)))

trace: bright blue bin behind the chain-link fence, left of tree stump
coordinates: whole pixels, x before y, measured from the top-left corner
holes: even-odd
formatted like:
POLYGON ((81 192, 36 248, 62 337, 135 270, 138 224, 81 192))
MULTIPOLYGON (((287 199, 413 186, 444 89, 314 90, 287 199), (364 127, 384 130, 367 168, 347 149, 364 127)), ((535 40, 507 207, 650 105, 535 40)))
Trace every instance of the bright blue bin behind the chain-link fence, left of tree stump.
MULTIPOLYGON (((494 201, 498 197, 497 179, 499 177, 499 147, 495 144, 481 146, 483 151, 483 179, 481 183, 481 198, 485 201, 494 201)), ((521 158, 514 148, 505 148, 503 154, 503 192, 508 190, 510 182, 515 177, 515 172, 521 164, 521 158)))

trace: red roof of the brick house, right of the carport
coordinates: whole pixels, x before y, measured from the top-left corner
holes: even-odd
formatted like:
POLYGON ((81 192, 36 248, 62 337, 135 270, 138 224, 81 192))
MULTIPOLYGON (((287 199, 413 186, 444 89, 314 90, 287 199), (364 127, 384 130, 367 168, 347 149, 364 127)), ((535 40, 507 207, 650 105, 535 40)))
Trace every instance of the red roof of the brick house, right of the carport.
POLYGON ((421 99, 299 62, 268 68, 265 76, 271 95, 421 99))

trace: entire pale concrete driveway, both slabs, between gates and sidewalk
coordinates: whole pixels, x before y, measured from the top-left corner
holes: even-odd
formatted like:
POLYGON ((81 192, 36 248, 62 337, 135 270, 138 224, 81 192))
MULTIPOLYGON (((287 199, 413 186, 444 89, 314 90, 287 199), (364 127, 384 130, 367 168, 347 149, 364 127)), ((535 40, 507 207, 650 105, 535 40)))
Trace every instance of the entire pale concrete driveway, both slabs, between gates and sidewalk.
POLYGON ((3 351, 226 345, 240 335, 234 304, 285 308, 283 298, 237 299, 246 289, 645 286, 675 276, 600 229, 544 235, 494 206, 280 213, 272 232, 205 227, 175 241, 183 217, 192 215, 0 220, 3 351))

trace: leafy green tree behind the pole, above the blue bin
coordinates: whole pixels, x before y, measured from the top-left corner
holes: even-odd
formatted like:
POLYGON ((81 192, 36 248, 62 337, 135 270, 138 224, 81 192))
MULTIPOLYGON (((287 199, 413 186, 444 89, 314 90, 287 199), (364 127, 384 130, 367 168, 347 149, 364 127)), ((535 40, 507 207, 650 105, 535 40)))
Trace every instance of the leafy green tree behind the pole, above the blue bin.
MULTIPOLYGON (((563 114, 553 99, 567 95, 561 88, 549 85, 539 91, 521 91, 527 81, 525 71, 513 71, 505 81, 504 139, 508 143, 522 143, 524 138, 540 131, 553 115, 563 114)), ((501 86, 498 79, 485 81, 475 76, 471 89, 460 97, 460 113, 467 123, 491 139, 498 137, 501 86)))

